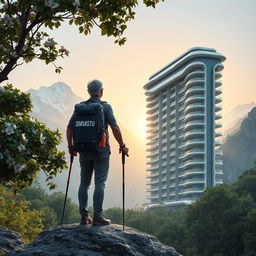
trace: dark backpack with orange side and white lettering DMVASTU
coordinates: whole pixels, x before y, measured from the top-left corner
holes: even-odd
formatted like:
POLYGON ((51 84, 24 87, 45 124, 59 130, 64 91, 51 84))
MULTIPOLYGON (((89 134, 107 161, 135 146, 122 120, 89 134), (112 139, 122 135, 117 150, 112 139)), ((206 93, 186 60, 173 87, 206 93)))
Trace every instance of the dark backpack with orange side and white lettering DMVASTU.
POLYGON ((103 151, 106 147, 106 129, 103 103, 85 101, 75 105, 73 122, 73 150, 103 151))

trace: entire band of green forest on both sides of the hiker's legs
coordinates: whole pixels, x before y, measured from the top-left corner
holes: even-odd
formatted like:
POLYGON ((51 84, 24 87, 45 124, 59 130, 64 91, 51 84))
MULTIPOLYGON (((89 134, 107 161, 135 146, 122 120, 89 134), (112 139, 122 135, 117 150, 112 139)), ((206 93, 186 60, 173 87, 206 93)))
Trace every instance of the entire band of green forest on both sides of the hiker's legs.
MULTIPOLYGON (((161 207, 125 211, 125 225, 155 235, 185 256, 254 256, 256 251, 256 167, 233 185, 208 188, 183 210, 161 207)), ((60 224, 64 194, 31 187, 19 195, 0 187, 0 226, 21 233, 26 242, 60 224)), ((122 209, 104 216, 122 224, 122 209)), ((64 223, 80 221, 78 206, 67 200, 64 223)))

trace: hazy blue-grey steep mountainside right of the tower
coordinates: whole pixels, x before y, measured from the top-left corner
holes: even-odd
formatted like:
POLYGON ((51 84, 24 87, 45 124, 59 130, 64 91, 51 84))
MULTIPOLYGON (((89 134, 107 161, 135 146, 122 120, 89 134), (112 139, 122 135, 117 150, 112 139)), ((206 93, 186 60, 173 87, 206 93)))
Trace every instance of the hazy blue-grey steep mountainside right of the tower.
POLYGON ((256 160, 256 107, 242 121, 239 131, 227 137, 222 149, 223 180, 232 184, 256 160))

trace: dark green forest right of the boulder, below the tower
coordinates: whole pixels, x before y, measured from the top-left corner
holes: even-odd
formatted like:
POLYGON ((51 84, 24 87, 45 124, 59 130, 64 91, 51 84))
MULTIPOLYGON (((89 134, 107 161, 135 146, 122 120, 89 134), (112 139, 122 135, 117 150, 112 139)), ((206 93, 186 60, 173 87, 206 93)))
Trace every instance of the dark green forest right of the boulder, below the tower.
MULTIPOLYGON (((234 185, 207 189, 182 211, 125 212, 127 226, 155 235, 184 256, 253 256, 256 251, 256 167, 234 185)), ((105 215, 122 224, 122 209, 105 215)))

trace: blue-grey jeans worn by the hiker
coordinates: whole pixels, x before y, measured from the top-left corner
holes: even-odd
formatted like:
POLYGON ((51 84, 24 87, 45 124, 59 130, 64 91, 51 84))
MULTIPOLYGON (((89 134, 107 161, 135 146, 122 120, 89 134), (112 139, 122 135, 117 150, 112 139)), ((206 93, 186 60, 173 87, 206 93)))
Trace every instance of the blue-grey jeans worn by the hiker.
POLYGON ((81 166, 81 183, 78 190, 80 214, 88 214, 88 189, 94 170, 93 215, 94 217, 99 217, 102 212, 105 182, 108 177, 109 153, 96 152, 90 154, 81 152, 79 161, 81 166))

